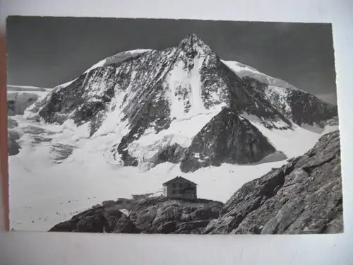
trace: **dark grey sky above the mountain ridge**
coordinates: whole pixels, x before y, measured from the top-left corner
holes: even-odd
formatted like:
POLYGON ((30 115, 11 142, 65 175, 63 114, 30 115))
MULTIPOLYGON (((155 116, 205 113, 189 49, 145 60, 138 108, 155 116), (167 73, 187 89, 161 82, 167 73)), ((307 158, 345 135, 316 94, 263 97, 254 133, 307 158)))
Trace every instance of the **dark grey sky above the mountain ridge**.
POLYGON ((163 49, 196 33, 236 60, 335 102, 331 24, 213 20, 60 18, 7 20, 8 84, 54 86, 128 49, 163 49))

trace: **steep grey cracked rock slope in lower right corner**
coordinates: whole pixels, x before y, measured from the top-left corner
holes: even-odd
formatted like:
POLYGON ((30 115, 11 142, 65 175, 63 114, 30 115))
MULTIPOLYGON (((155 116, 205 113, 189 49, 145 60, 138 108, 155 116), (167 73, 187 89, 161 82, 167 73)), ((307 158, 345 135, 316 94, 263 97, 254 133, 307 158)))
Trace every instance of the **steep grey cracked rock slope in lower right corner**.
POLYGON ((325 134, 309 152, 244 184, 208 234, 300 234, 343 231, 340 136, 325 134))

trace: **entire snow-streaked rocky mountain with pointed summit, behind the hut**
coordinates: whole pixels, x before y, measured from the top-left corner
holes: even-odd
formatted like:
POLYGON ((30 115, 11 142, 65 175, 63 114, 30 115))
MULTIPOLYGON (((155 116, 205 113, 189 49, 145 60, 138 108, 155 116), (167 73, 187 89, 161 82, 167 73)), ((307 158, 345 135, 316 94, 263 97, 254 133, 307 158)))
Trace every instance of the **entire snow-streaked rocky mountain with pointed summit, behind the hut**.
POLYGON ((109 163, 149 169, 169 162, 183 172, 284 159, 263 129, 321 126, 337 116, 308 93, 239 77, 195 34, 133 54, 97 64, 32 110, 45 122, 73 121, 91 139, 109 137, 109 163))

